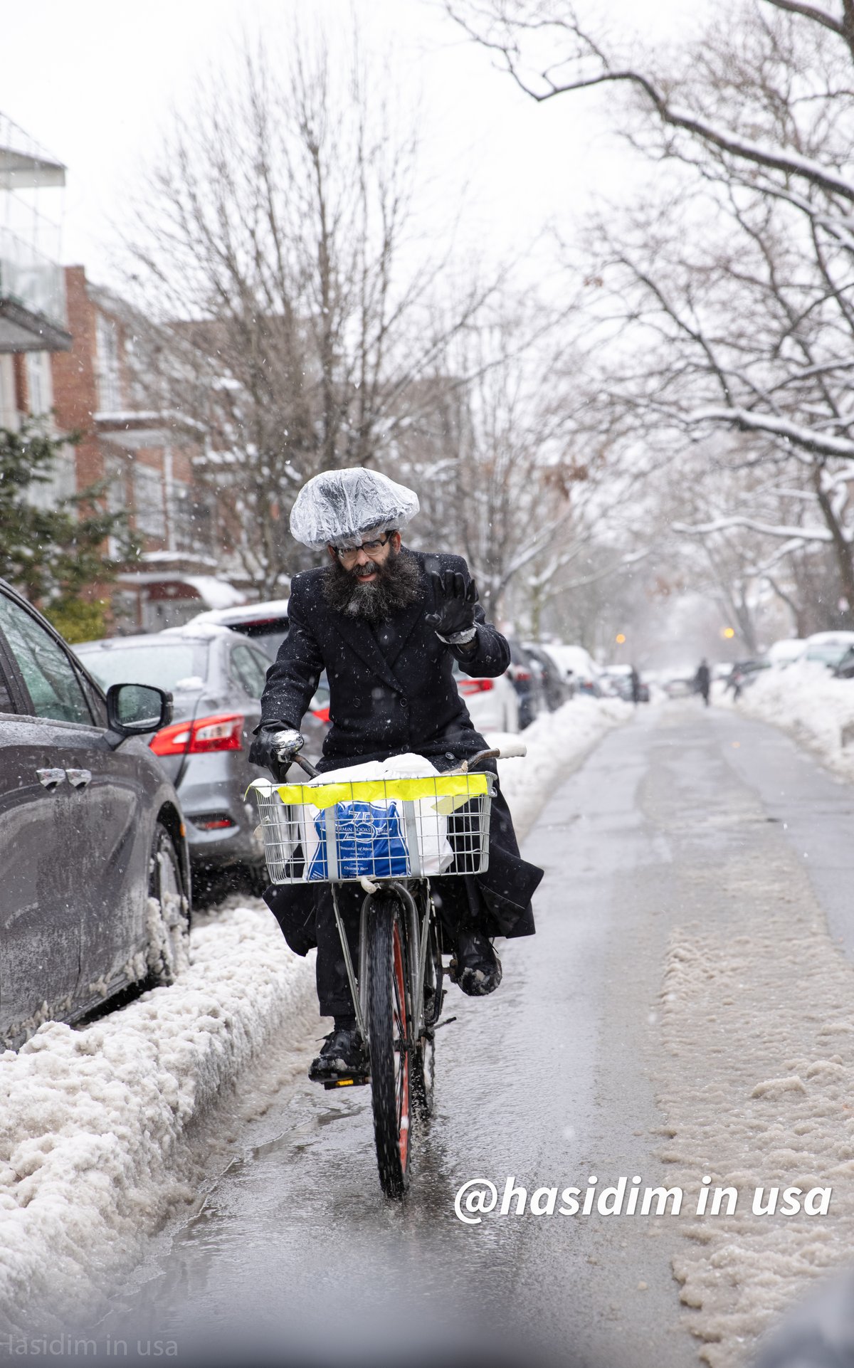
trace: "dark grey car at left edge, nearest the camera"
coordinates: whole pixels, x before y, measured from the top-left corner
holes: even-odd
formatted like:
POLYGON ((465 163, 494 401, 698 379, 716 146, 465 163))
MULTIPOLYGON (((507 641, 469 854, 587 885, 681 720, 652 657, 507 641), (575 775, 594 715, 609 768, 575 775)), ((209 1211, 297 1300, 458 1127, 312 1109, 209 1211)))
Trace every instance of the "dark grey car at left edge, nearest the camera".
POLYGON ((104 695, 59 633, 0 581, 0 1041, 8 1048, 42 1021, 78 1021, 131 984, 171 982, 186 958, 183 818, 144 739, 170 722, 171 700, 145 679, 122 674, 111 685, 104 695))

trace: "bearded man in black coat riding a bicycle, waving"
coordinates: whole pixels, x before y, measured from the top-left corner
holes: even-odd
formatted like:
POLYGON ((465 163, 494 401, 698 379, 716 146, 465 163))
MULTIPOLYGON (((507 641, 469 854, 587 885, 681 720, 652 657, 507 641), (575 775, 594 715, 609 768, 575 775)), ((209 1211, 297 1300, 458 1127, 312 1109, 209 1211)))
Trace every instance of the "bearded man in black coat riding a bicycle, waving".
MULTIPOLYGON (((502 674, 509 647, 486 621, 463 557, 401 544, 401 528, 417 510, 412 490, 361 466, 318 475, 297 495, 290 531, 304 546, 326 547, 330 564, 294 576, 289 633, 267 672, 249 759, 274 778, 285 778, 302 746, 300 722, 323 670, 331 722, 318 766, 323 772, 408 752, 449 770, 487 748, 460 698, 453 663, 464 674, 502 674)), ((443 878, 434 892, 453 945, 450 977, 469 996, 491 993, 501 982, 494 936, 534 934, 531 895, 542 878, 519 854, 498 789, 489 847, 486 873, 443 878)), ((320 1015, 334 1018, 334 1030, 309 1078, 327 1082, 363 1070, 365 1047, 330 886, 279 885, 264 897, 292 949, 305 955, 318 947, 320 1015)), ((357 884, 338 888, 353 956, 363 897, 357 884)))

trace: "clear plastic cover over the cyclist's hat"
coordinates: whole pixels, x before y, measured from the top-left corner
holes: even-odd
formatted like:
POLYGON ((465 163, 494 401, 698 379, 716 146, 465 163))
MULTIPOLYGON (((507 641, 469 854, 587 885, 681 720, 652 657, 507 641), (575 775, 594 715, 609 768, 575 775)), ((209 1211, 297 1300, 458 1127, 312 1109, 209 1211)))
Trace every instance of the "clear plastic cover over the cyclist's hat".
POLYGON ((323 471, 302 486, 290 510, 292 536, 302 546, 361 546, 367 534, 401 528, 419 510, 417 494, 361 465, 323 471))

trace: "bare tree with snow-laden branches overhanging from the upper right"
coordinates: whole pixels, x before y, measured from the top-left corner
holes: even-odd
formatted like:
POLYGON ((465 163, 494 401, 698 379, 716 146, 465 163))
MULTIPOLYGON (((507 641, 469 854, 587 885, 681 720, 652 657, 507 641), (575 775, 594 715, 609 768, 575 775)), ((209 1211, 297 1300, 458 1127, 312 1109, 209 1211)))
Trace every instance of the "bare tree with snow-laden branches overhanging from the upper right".
POLYGON ((693 535, 727 562, 738 540, 755 572, 743 583, 764 579, 784 595, 781 570, 792 580, 806 553, 829 553, 828 620, 853 622, 847 0, 833 12, 746 0, 664 73, 609 45, 571 4, 449 10, 538 100, 604 83, 638 93, 630 138, 673 176, 668 200, 598 226, 598 274, 636 335, 634 373, 612 376, 612 389, 686 442, 716 428, 745 434, 740 487, 728 482, 734 499, 716 501, 714 517, 698 510, 693 535))

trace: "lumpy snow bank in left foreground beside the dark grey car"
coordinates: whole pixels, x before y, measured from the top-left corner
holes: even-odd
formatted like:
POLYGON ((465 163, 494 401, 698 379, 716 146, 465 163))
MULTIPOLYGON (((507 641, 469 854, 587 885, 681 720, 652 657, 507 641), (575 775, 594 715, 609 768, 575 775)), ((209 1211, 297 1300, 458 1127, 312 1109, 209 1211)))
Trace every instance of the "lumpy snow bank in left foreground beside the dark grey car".
POLYGON ((181 1152, 285 1019, 316 1021, 313 964, 263 903, 193 930, 190 969, 92 1026, 49 1022, 0 1055, 0 1326, 68 1326, 182 1187, 181 1152))

